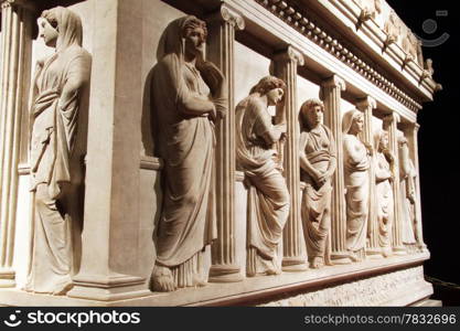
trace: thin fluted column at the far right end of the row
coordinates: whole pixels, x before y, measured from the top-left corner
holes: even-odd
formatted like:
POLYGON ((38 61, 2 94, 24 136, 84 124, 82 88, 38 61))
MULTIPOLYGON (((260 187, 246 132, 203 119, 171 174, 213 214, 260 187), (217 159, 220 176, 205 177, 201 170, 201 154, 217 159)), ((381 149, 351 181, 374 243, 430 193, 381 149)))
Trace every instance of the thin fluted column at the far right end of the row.
POLYGON ((420 125, 417 122, 410 124, 406 129, 406 137, 409 143, 410 158, 414 160, 414 166, 417 171, 416 179, 416 234, 417 234, 417 245, 420 249, 426 249, 427 245, 424 242, 424 231, 421 226, 421 195, 420 195, 420 168, 418 162, 418 130, 420 125))

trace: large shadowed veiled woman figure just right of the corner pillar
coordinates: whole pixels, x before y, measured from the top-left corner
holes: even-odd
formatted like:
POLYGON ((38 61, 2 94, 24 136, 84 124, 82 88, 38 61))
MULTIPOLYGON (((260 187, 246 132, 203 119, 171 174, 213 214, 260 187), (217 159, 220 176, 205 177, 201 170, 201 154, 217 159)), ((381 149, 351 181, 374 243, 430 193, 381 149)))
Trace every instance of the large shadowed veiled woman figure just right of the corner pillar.
POLYGON ((206 25, 195 17, 171 22, 152 75, 158 156, 164 160, 152 287, 203 286, 203 250, 215 238, 214 121, 226 111, 224 77, 203 60, 206 25))

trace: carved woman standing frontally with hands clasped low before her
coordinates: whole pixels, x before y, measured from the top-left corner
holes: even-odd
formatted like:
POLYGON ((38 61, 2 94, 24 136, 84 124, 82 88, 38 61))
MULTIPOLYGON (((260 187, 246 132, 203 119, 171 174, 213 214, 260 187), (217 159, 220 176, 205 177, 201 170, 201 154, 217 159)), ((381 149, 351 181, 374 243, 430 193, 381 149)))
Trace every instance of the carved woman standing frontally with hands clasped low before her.
POLYGON ((324 106, 317 99, 300 108, 302 222, 310 266, 320 268, 330 261, 331 179, 336 160, 332 132, 322 124, 324 106))

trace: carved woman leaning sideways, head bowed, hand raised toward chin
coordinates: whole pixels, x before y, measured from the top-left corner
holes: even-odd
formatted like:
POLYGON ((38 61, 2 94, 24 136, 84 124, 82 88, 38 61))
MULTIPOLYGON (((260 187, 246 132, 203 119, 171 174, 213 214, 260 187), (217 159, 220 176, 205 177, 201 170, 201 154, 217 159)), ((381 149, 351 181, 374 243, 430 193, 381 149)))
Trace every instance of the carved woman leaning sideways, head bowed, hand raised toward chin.
POLYGON ((261 78, 236 107, 236 163, 249 185, 247 275, 280 273, 278 244, 289 215, 289 192, 275 145, 286 125, 274 125, 269 106, 281 102, 285 83, 261 78))

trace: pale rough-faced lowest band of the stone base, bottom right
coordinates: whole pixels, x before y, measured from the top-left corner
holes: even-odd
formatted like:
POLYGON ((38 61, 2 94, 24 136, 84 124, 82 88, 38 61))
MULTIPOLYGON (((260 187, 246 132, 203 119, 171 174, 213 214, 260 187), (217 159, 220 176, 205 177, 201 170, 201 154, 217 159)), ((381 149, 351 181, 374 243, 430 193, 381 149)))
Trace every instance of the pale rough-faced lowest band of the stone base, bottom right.
POLYGON ((421 266, 295 295, 261 307, 292 306, 409 306, 432 295, 421 266))

